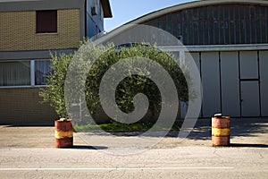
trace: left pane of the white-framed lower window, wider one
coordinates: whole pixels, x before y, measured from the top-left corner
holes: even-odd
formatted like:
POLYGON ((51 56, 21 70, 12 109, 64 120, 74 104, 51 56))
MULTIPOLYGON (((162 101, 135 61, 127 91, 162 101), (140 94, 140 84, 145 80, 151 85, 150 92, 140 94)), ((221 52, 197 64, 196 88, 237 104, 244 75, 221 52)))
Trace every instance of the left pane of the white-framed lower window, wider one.
POLYGON ((24 86, 30 85, 30 63, 1 62, 0 86, 24 86))

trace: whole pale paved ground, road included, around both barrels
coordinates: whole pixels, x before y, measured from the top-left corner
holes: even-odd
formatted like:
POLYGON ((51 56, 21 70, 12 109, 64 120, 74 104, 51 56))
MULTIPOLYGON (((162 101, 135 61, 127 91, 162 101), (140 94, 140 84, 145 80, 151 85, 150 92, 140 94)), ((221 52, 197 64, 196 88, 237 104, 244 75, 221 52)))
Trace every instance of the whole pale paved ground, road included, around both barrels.
MULTIPOLYGON (((211 146, 210 120, 182 142, 165 137, 136 155, 107 154, 74 133, 54 148, 54 127, 1 126, 0 178, 268 178, 268 120, 232 119, 230 147, 211 146)), ((99 136, 92 136, 98 140, 99 136)))

